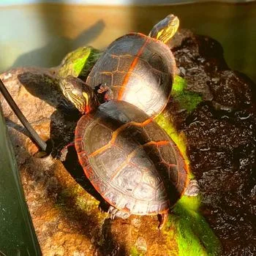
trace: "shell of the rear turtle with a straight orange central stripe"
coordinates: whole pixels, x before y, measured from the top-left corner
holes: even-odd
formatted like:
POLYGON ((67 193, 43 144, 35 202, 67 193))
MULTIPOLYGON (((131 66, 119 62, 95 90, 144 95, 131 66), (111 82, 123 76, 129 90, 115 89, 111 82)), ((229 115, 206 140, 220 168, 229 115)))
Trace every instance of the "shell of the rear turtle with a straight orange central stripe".
POLYGON ((144 34, 131 33, 108 46, 86 83, 93 89, 106 85, 113 92, 113 99, 156 116, 170 97, 175 69, 175 59, 167 45, 144 34))

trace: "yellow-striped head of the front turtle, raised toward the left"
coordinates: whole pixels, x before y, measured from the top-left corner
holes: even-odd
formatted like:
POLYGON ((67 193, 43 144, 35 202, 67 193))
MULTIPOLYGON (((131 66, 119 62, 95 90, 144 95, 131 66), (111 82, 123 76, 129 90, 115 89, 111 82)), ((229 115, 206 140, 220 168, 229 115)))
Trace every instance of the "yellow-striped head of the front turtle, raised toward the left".
POLYGON ((72 102, 80 113, 90 113, 99 106, 93 89, 83 80, 69 75, 67 78, 61 78, 59 86, 64 97, 72 102))

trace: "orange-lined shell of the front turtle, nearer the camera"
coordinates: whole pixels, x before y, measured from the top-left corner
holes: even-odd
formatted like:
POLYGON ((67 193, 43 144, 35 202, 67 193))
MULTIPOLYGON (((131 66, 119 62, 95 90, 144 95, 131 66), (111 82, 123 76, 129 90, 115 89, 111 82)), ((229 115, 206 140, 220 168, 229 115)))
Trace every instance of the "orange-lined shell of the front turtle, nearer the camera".
POLYGON ((75 148, 91 184, 118 210, 161 214, 187 187, 187 168, 176 144, 128 102, 105 102, 82 116, 75 148))

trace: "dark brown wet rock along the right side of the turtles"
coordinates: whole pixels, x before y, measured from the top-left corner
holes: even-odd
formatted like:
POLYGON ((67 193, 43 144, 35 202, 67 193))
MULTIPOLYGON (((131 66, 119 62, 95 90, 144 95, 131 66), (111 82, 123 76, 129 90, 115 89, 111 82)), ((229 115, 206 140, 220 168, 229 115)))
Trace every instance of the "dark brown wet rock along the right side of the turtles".
POLYGON ((255 84, 228 69, 214 39, 190 34, 173 52, 189 91, 204 99, 192 113, 178 113, 171 104, 165 110, 186 136, 203 213, 222 242, 222 255, 254 255, 255 84))

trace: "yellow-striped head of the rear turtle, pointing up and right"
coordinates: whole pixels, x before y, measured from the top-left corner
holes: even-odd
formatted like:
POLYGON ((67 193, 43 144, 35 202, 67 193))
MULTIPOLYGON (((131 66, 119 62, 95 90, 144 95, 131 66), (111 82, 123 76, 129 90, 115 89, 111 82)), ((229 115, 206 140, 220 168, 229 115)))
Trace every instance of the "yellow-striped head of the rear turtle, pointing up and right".
POLYGON ((159 23, 157 23, 153 29, 151 29, 148 37, 153 37, 166 43, 173 37, 174 34, 176 34, 178 26, 178 17, 173 14, 167 15, 166 18, 159 21, 159 23))

